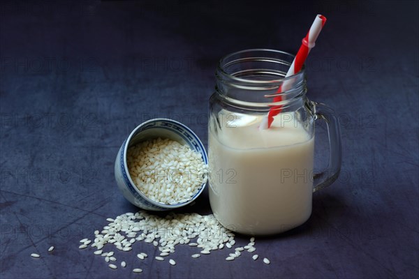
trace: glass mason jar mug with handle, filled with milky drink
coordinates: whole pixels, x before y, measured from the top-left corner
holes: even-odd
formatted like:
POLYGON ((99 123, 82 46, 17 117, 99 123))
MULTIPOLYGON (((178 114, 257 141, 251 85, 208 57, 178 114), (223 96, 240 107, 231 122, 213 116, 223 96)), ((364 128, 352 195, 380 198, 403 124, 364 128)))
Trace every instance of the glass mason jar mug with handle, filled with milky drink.
POLYGON ((235 232, 276 234, 301 225, 311 215, 312 193, 339 175, 339 122, 329 107, 307 99, 304 67, 285 77, 293 59, 276 50, 243 50, 223 57, 216 69, 208 124, 210 204, 235 232), (270 111, 272 125, 263 128, 270 111), (314 174, 317 119, 328 125, 330 158, 327 169, 314 174))

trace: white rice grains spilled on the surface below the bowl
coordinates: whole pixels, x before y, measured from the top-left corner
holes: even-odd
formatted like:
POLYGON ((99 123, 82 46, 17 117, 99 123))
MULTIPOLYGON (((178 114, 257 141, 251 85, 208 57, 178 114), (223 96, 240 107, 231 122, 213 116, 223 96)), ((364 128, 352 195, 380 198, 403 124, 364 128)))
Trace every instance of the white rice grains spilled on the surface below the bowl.
MULTIPOLYGON (((201 158, 199 159, 202 160, 201 158)), ((172 158, 168 160, 170 161, 172 158)), ((149 183, 154 182, 149 181, 149 183)), ((170 191, 177 188, 174 184, 167 184, 166 186, 168 187, 166 190, 170 191)), ((135 241, 152 243, 160 251, 159 256, 154 257, 158 261, 164 261, 164 257, 174 253, 178 244, 200 248, 199 253, 191 255, 193 258, 208 255, 212 250, 223 249, 224 246, 226 248, 234 248, 233 246, 235 245, 235 234, 219 224, 213 214, 200 216, 197 213, 169 213, 166 217, 159 217, 146 211, 138 211, 135 214, 125 213, 107 220, 109 223, 103 227, 102 232, 96 230, 94 232, 95 237, 91 241, 82 239, 80 241, 82 245, 79 248, 86 248, 89 243, 93 242, 92 246, 97 248, 94 255, 102 255, 108 263, 116 262, 117 259, 112 257, 115 254, 113 251, 103 252, 102 248, 106 244, 112 247, 115 246, 118 250, 128 251, 133 250, 135 241), (145 227, 147 229, 144 229, 145 227), (163 233, 169 231, 173 233, 163 233), (221 237, 219 237, 220 232, 221 237)), ((244 249, 249 252, 256 250, 253 247, 254 239, 251 238, 250 240, 246 246, 234 248, 233 253, 230 253, 226 260, 234 260, 236 257, 239 257, 244 249)), ((141 252, 137 254, 137 257, 145 259, 147 254, 141 252)), ((252 255, 253 260, 257 258, 257 255, 252 255)), ((171 265, 176 265, 174 259, 168 259, 168 262, 171 265)), ((121 266, 125 267, 126 262, 121 262, 121 266)))

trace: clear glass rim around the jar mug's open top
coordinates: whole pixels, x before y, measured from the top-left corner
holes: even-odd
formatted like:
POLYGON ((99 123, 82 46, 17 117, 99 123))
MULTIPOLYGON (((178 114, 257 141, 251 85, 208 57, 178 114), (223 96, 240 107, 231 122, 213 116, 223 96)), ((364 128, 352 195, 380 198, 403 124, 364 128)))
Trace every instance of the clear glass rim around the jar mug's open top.
MULTIPOLYGON (((274 54, 285 54, 287 56, 290 56, 291 63, 289 63, 289 66, 291 66, 293 59, 295 58, 294 54, 291 54, 289 52, 284 52, 281 50, 272 50, 272 49, 267 49, 267 48, 253 48, 253 49, 248 49, 248 50, 240 50, 238 52, 232 52, 230 54, 227 54, 223 57, 221 57, 221 59, 219 60, 217 66, 216 66, 216 72, 217 73, 221 73, 221 75, 228 77, 228 79, 234 81, 234 82, 246 82, 247 84, 277 84, 277 83, 282 83, 286 80, 291 80, 299 75, 304 75, 305 73, 305 64, 302 65, 302 68, 300 71, 298 71, 297 73, 295 73, 294 75, 290 75, 289 77, 281 77, 279 79, 273 79, 273 80, 251 80, 251 79, 247 79, 247 78, 243 78, 243 77, 237 77, 235 75, 231 75, 230 73, 227 73, 226 70, 224 69, 224 67, 226 65, 228 65, 228 62, 226 61, 228 58, 238 55, 238 54, 243 54, 246 52, 266 52, 266 53, 274 53, 274 54)), ((261 59, 261 58, 269 58, 269 57, 249 57, 248 59, 261 59)), ((272 58, 272 57, 271 57, 272 58)))

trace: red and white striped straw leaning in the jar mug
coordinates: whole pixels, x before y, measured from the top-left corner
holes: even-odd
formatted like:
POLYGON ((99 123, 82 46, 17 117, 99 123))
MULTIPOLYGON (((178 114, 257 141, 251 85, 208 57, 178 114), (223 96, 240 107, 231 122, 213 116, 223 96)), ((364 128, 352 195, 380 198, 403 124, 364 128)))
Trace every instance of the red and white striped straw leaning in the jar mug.
MULTIPOLYGON (((291 75, 300 72, 302 65, 304 65, 304 62, 307 59, 307 56, 309 56, 310 50, 314 47, 314 45, 316 45, 318 34, 320 34, 323 25, 325 25, 325 22, 325 16, 316 15, 316 19, 314 20, 313 24, 311 24, 311 28, 307 33, 307 36, 305 36, 305 38, 302 39, 300 50, 298 50, 297 55, 295 56, 295 59, 291 64, 290 68, 288 69, 288 72, 286 73, 285 77, 290 77, 291 75)), ((291 83, 289 82, 289 80, 286 80, 283 84, 281 84, 281 86, 279 86, 277 93, 285 92, 289 90, 290 87, 291 83)), ((281 95, 274 97, 275 103, 280 102, 281 100, 283 100, 281 95)), ((281 107, 281 105, 271 107, 267 116, 263 117, 262 123, 260 123, 260 130, 270 128, 272 122, 274 121, 274 116, 281 112, 281 107)))

